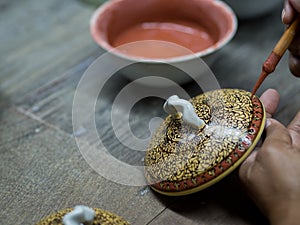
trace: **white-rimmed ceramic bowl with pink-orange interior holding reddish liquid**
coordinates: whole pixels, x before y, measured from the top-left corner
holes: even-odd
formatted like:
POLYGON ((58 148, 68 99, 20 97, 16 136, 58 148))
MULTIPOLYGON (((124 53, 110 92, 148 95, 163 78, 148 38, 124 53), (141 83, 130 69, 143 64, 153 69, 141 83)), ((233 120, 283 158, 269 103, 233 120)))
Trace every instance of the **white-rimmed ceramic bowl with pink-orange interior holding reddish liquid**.
POLYGON ((199 58, 209 63, 236 29, 234 12, 218 0, 110 0, 90 21, 91 35, 101 48, 124 60, 143 61, 140 68, 127 71, 130 79, 136 78, 137 69, 153 74, 153 65, 160 63, 177 66, 199 58))

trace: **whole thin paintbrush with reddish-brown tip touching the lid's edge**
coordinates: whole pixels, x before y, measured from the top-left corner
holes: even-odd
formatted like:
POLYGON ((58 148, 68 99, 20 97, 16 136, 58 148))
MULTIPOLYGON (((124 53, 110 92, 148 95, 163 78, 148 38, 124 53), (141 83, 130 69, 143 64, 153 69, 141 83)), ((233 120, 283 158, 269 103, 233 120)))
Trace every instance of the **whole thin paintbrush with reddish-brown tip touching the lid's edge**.
POLYGON ((299 26, 300 16, 298 16, 293 23, 285 30, 283 35, 281 36, 280 40, 277 42, 275 48, 267 58, 267 60, 264 62, 262 67, 262 72, 257 80, 257 82, 254 85, 254 88, 252 90, 252 95, 255 95, 257 89, 260 87, 262 82, 266 79, 266 77, 273 73, 277 64, 279 63, 280 59, 292 43, 294 36, 296 34, 296 30, 299 26))

